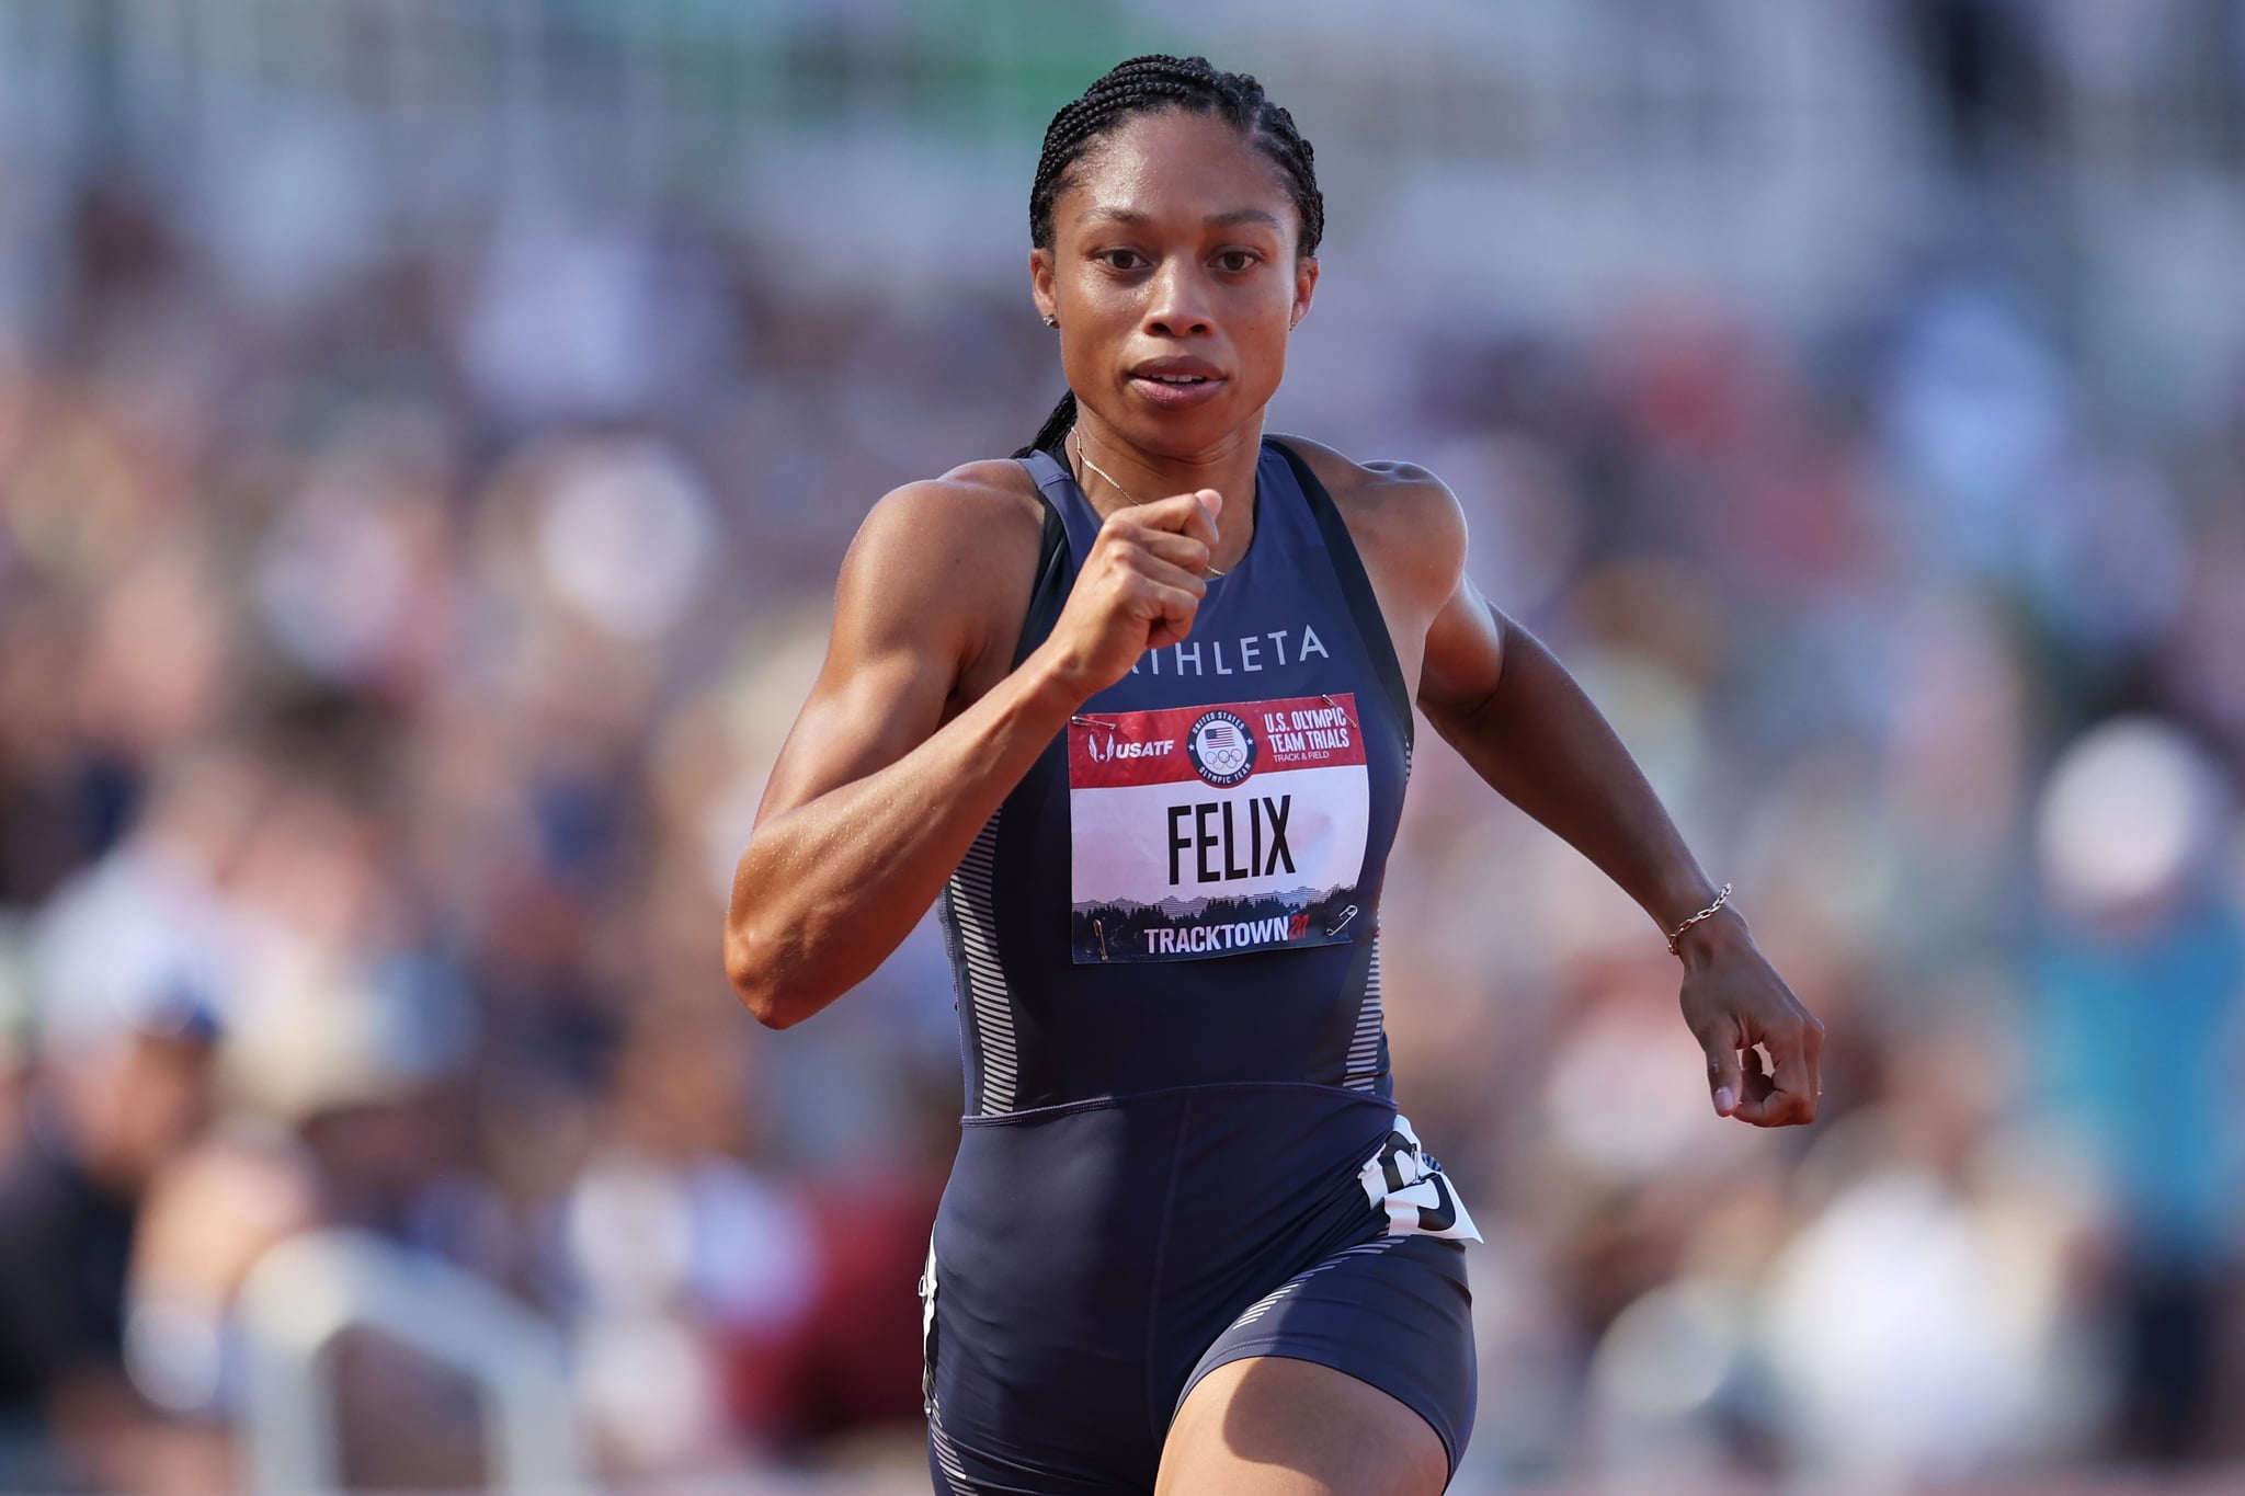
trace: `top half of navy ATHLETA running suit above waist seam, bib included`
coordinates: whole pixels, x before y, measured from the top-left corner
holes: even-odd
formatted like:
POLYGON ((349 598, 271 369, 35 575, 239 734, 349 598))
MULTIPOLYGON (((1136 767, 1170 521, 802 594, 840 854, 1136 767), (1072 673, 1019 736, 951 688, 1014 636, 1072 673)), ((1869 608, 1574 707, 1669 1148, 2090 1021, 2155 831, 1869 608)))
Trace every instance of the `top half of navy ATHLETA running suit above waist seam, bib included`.
MULTIPOLYGON (((1100 529, 1051 453, 1024 467, 1048 518, 1015 664, 1100 529)), ((1266 442, 1255 538, 1192 637, 1082 704, 950 881, 968 1112, 1212 1081, 1387 1097, 1378 893, 1410 749, 1347 527, 1266 442)))

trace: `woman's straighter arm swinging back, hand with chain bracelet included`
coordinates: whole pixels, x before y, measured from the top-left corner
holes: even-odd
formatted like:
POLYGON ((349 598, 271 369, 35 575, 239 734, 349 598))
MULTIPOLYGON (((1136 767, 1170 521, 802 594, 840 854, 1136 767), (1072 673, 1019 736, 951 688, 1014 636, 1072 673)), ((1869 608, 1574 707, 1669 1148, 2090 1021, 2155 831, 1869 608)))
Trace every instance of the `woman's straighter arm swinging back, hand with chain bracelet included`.
MULTIPOLYGON (((1612 724, 1536 635, 1475 590, 1461 556, 1426 635, 1419 707, 1497 794, 1596 864, 1664 933, 1715 902, 1612 724)), ((1715 1110, 1765 1128, 1816 1121, 1823 1025, 1753 946, 1744 917, 1726 904, 1684 931, 1677 955, 1715 1110)))

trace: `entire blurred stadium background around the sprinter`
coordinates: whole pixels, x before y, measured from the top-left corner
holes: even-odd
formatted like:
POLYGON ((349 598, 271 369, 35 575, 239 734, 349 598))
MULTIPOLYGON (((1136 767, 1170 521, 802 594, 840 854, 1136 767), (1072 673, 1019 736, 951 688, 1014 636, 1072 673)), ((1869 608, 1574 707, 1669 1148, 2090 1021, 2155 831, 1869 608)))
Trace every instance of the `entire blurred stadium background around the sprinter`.
POLYGON ((2241 0, 0 0, 0 1489, 925 1489, 941 944, 768 1034, 721 913, 1145 49, 1318 148, 1271 426, 1457 489, 1830 1025, 1717 1126, 1419 756, 1455 1489, 2245 1489, 2241 0))

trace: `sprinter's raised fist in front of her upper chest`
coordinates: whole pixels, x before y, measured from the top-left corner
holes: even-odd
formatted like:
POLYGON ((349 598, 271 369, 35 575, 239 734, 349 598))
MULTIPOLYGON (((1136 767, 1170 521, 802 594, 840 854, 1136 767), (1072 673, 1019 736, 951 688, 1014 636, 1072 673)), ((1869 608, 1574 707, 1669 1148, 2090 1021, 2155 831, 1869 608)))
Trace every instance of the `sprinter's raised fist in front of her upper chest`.
POLYGON ((1046 644, 1080 698, 1129 675, 1145 650, 1192 632, 1219 514, 1224 496, 1201 489, 1107 516, 1046 644))

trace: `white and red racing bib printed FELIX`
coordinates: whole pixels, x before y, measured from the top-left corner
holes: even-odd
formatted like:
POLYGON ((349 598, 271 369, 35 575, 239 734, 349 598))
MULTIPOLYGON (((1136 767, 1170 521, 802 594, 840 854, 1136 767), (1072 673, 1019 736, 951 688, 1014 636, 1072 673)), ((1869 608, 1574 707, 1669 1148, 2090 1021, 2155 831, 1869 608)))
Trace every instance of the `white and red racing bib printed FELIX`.
POLYGON ((1369 814, 1351 693, 1073 718, 1075 962, 1356 940, 1369 814))

